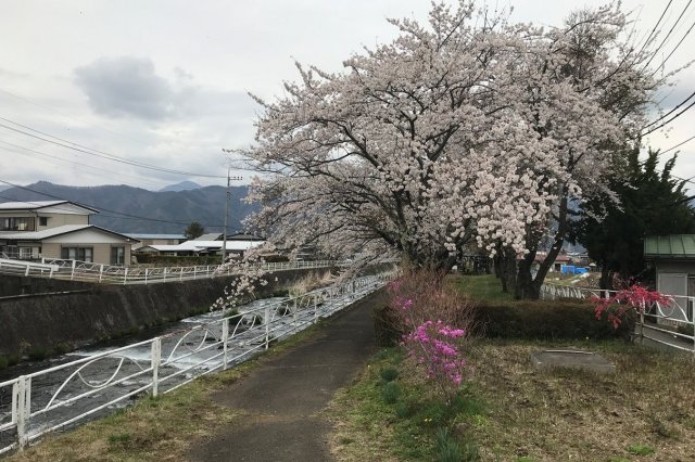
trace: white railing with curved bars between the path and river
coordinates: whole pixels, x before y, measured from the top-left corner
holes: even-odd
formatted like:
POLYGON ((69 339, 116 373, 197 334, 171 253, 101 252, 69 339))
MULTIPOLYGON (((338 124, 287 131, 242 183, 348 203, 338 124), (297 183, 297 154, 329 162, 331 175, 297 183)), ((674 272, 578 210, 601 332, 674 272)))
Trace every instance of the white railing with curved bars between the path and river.
POLYGON ((0 398, 12 398, 0 399, 0 454, 89 415, 104 415, 131 397, 168 393, 245 361, 382 287, 391 277, 363 277, 280 301, 257 300, 228 317, 211 313, 188 330, 1 382, 0 398))

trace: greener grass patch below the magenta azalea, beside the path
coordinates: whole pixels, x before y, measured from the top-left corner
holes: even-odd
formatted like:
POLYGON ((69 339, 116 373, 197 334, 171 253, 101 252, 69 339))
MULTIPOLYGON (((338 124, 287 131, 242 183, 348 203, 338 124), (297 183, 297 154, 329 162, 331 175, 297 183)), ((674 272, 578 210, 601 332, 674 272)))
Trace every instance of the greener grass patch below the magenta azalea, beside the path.
POLYGON ((462 428, 484 412, 469 387, 445 402, 400 348, 386 348, 338 393, 327 414, 339 428, 331 438, 338 460, 477 461, 478 448, 462 428), (382 376, 390 369, 397 381, 382 376))

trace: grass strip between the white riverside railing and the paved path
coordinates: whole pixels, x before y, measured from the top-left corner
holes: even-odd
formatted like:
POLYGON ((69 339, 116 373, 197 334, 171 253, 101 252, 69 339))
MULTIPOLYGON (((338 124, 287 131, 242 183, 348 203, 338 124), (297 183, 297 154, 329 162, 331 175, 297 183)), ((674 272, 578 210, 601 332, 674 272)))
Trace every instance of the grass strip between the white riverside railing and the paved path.
POLYGON ((265 358, 277 356, 315 335, 321 322, 283 341, 265 355, 218 374, 202 376, 157 398, 146 397, 112 415, 65 434, 47 436, 40 445, 15 452, 7 461, 180 461, 192 441, 225 425, 248 420, 215 405, 211 393, 248 375, 265 358))

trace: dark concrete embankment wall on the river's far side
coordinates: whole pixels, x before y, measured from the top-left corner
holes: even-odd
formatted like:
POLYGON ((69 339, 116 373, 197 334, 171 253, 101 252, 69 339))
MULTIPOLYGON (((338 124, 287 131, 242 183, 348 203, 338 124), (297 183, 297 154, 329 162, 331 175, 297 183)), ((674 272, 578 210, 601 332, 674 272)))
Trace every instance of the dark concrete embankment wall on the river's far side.
MULTIPOLYGON (((312 271, 326 270, 269 274, 268 284, 260 293, 290 285, 312 271)), ((233 280, 233 277, 215 278, 149 285, 34 280, 27 285, 27 281, 11 281, 12 278, 24 279, 2 275, 0 284, 31 286, 30 292, 24 292, 37 295, 0 298, 0 355, 5 357, 76 348, 204 312, 224 296, 225 287, 233 280), (61 291, 75 292, 38 295, 61 291)))

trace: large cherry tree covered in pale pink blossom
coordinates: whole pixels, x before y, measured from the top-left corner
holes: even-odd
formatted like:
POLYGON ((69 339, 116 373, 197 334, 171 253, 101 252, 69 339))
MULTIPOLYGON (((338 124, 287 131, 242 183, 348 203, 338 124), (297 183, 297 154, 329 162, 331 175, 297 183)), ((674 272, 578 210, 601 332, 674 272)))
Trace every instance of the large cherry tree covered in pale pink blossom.
POLYGON ((615 8, 547 31, 472 1, 434 3, 427 26, 390 22, 400 36, 343 73, 298 63, 283 97, 256 98, 247 155, 264 175, 249 201, 262 208, 248 224, 286 247, 429 269, 472 243, 513 259, 510 286, 538 296, 541 243, 554 259, 568 201, 609 192, 615 146, 644 124, 657 85, 644 52, 620 41, 615 8))

